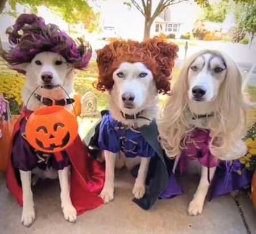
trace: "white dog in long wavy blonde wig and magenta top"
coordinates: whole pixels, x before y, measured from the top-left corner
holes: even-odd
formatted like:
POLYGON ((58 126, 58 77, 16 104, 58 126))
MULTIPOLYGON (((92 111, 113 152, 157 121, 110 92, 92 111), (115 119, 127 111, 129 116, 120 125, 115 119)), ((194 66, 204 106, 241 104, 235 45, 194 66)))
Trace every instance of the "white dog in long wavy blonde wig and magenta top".
POLYGON ((216 50, 202 50, 184 62, 160 117, 159 131, 167 156, 176 157, 173 171, 184 155, 201 164, 200 183, 189 203, 189 215, 203 211, 210 182, 221 162, 246 154, 243 107, 242 77, 230 57, 216 50))

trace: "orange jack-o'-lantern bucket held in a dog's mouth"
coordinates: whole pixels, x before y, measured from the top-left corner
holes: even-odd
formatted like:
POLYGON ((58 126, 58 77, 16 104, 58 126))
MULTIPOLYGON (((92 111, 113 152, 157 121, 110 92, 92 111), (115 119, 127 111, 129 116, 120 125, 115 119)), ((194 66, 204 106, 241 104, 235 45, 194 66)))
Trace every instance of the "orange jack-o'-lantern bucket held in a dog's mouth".
POLYGON ((26 139, 38 151, 64 150, 75 140, 77 133, 76 117, 58 105, 35 110, 27 120, 26 139))

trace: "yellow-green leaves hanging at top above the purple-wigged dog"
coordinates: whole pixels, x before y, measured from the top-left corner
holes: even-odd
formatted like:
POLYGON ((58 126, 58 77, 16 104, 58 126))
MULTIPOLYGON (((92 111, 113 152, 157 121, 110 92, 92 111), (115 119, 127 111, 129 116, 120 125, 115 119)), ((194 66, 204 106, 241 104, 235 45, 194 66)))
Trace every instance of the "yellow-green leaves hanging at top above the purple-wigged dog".
POLYGON ((76 24, 82 22, 88 28, 94 28, 95 19, 98 19, 98 16, 94 14, 86 0, 9 0, 9 5, 13 12, 16 11, 18 3, 30 7, 34 13, 37 12, 37 7, 46 6, 56 14, 59 14, 67 23, 76 24), (90 22, 93 22, 94 25, 90 25, 90 22))

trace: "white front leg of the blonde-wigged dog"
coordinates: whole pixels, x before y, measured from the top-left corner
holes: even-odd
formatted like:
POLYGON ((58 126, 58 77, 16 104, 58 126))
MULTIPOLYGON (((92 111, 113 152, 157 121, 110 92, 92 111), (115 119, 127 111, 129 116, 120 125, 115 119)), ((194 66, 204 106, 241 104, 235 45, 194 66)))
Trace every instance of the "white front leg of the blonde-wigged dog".
MULTIPOLYGON (((216 170, 216 167, 210 168, 210 181, 212 181, 215 170, 216 170)), ((195 216, 195 215, 202 214, 203 207, 204 207, 204 200, 207 195, 209 186, 210 184, 208 181, 208 168, 202 166, 199 186, 197 187, 196 193, 194 194, 194 197, 188 206, 189 215, 195 216)))

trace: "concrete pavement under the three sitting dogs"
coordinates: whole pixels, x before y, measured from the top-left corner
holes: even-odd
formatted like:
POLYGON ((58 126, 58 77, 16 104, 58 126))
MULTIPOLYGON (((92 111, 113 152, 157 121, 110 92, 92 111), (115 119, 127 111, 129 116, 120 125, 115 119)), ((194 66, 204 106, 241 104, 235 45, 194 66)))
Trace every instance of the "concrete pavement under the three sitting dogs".
MULTIPOLYGON (((36 185, 34 199, 36 221, 30 227, 20 223, 22 209, 5 187, 0 174, 0 233, 3 234, 248 234, 238 207, 229 195, 207 202, 202 215, 190 217, 187 206, 196 189, 197 177, 182 178, 184 195, 156 202, 153 209, 143 211, 131 199, 133 178, 126 170, 117 171, 115 199, 108 205, 88 211, 75 224, 64 220, 60 208, 57 181, 36 185)), ((240 197, 242 210, 252 234, 256 233, 256 212, 252 203, 240 197)))

